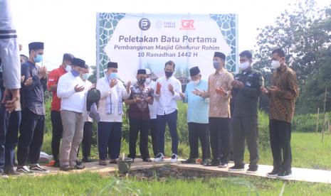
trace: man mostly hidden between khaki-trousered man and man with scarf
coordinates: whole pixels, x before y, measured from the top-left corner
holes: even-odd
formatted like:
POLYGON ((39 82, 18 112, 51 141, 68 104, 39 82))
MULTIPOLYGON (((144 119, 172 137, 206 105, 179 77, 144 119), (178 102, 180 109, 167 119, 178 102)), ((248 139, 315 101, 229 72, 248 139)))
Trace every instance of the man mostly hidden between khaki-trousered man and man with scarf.
MULTIPOLYGON (((95 87, 90 81, 88 81, 88 73, 90 72, 90 67, 88 65, 85 65, 84 69, 82 70, 82 80, 84 82, 85 89, 91 89, 95 87)), ((88 93, 88 91, 86 91, 88 93)), ((86 94, 87 95, 87 94, 86 94)), ((84 128, 83 128, 83 140, 82 140, 82 152, 83 152, 83 159, 82 162, 91 162, 88 157, 90 156, 91 151, 91 145, 92 145, 92 136, 93 136, 93 119, 88 115, 88 110, 86 108, 86 99, 84 104, 84 113, 83 113, 83 119, 84 119, 84 128)), ((78 148, 79 151, 79 148, 78 148)), ((77 154, 78 156, 78 154, 77 154)))

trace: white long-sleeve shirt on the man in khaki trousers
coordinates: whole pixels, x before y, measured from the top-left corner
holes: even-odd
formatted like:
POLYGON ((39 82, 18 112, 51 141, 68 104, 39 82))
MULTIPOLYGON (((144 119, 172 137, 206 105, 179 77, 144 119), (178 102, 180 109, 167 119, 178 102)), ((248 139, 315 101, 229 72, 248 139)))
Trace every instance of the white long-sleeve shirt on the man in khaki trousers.
POLYGON ((58 97, 61 98, 61 111, 75 111, 83 113, 85 105, 85 94, 88 89, 81 92, 75 92, 75 86, 84 86, 84 82, 80 77, 74 77, 71 72, 67 72, 58 80, 58 97))

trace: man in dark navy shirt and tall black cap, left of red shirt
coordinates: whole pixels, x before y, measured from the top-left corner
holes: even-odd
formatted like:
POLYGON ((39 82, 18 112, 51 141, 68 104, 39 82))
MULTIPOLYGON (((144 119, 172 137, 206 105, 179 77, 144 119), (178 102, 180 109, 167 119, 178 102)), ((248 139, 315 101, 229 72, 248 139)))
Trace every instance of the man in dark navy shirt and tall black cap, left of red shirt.
POLYGON ((29 58, 21 65, 21 73, 26 80, 32 80, 31 85, 23 86, 22 121, 19 129, 19 146, 17 171, 28 173, 30 170, 43 171, 38 164, 41 146, 43 144, 43 129, 45 121, 44 91, 46 90, 46 67, 39 67, 36 63, 43 61, 43 43, 33 42, 28 44, 29 58), (26 166, 29 158, 30 168, 26 166))

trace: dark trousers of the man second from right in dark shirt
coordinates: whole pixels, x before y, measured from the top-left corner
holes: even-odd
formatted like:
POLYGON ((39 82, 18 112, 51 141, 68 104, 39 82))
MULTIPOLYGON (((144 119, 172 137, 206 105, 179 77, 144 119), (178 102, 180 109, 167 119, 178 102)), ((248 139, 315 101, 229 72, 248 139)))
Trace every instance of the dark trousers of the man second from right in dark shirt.
POLYGON ((258 118, 233 117, 231 119, 233 129, 233 158, 236 165, 243 167, 245 153, 245 139, 247 141, 250 164, 249 168, 258 168, 258 118))

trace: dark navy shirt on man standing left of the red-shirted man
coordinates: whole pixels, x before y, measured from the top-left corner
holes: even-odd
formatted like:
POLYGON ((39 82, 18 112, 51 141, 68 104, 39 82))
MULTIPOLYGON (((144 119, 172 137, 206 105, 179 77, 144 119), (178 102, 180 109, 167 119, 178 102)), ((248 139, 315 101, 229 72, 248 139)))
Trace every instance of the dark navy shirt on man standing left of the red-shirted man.
MULTIPOLYGON (((40 67, 30 61, 26 61, 21 65, 21 73, 25 76, 25 80, 32 77, 32 84, 23 86, 23 107, 27 107, 34 114, 45 115, 44 92, 46 91, 46 78, 39 79, 38 70, 40 67)), ((24 81, 25 82, 25 81, 24 81)))

